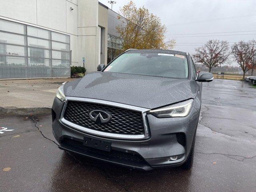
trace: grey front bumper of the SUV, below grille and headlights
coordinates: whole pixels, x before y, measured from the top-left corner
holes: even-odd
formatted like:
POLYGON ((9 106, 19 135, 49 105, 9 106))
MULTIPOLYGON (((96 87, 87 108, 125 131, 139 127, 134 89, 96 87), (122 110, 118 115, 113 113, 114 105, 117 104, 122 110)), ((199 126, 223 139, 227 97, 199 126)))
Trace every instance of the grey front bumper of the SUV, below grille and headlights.
POLYGON ((122 140, 87 134, 63 124, 60 121, 63 106, 64 102, 61 102, 58 98, 54 99, 52 131, 54 137, 60 143, 60 149, 143 170, 182 165, 190 152, 200 113, 200 109, 198 110, 193 106, 190 114, 186 117, 156 118, 148 114, 150 138, 122 140), (102 154, 100 151, 91 150, 92 148, 85 148, 83 146, 84 136, 110 141, 111 148, 116 156, 102 154), (184 137, 183 140, 182 137, 184 137), (131 154, 133 155, 131 156, 131 154), (131 160, 126 156, 129 156, 131 160), (141 157, 142 160, 132 158, 133 156, 141 157), (181 158, 170 161, 170 156, 180 156, 181 158))

